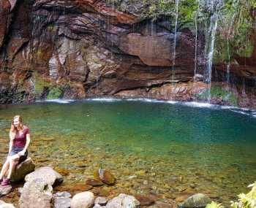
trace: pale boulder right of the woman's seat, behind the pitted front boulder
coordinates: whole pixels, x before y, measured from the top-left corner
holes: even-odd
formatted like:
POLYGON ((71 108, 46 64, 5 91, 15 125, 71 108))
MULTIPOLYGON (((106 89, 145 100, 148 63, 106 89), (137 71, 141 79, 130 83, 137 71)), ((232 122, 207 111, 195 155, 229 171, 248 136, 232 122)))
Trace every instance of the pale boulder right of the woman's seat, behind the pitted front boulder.
POLYGON ((54 171, 51 167, 45 166, 39 169, 36 169, 34 172, 27 174, 25 181, 29 182, 34 179, 42 178, 48 185, 56 186, 63 182, 63 177, 58 172, 54 171))

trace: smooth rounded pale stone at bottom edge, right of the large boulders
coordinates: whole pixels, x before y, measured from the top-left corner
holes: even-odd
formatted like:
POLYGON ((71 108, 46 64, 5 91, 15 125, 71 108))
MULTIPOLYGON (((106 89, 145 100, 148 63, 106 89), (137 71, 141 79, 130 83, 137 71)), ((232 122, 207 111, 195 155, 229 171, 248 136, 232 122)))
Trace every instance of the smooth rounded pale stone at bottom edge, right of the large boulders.
POLYGON ((71 200, 71 208, 89 208, 94 204, 94 193, 85 191, 76 194, 71 200))

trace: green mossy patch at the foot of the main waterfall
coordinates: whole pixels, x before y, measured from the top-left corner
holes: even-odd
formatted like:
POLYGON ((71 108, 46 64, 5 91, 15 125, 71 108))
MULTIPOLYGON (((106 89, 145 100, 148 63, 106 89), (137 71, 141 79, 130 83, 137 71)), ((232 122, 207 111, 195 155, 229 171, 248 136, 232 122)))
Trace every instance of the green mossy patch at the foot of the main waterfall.
MULTIPOLYGON (((197 99, 206 100, 208 98, 209 91, 205 90, 203 93, 197 94, 197 99)), ((222 99, 222 101, 227 101, 230 104, 237 105, 238 104, 238 97, 231 92, 230 90, 222 89, 219 86, 212 86, 211 87, 211 98, 212 99, 222 99)))

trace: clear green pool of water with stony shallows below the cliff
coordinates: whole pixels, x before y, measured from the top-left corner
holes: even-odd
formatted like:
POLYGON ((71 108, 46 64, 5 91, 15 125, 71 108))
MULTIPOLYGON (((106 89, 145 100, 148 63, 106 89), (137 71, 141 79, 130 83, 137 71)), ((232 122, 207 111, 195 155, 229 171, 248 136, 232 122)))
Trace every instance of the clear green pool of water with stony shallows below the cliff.
POLYGON ((0 159, 10 120, 31 128, 37 166, 69 172, 84 182, 102 167, 116 175, 109 190, 219 196, 228 204, 256 180, 256 118, 230 109, 145 101, 83 101, 0 106, 0 159))

